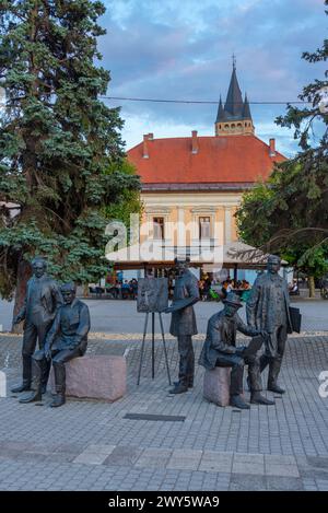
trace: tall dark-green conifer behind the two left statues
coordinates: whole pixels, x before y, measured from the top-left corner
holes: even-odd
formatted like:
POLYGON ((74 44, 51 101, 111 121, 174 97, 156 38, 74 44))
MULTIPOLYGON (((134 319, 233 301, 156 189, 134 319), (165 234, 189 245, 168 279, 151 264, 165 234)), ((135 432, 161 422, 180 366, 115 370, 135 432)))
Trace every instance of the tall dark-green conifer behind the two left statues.
POLYGON ((119 110, 99 98, 104 12, 91 0, 0 0, 0 293, 16 288, 16 307, 34 255, 59 280, 103 276, 106 207, 140 187, 125 172, 119 110))

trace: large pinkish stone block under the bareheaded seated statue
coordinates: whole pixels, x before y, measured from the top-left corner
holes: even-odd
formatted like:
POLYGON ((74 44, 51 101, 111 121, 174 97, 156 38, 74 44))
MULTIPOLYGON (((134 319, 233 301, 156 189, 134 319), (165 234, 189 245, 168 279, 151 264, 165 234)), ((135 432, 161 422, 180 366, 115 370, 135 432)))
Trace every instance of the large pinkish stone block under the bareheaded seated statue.
MULTIPOLYGON (((85 355, 65 364, 66 395, 110 403, 122 397, 127 389, 127 363, 124 357, 85 355)), ((50 387, 55 393, 54 369, 50 387)))

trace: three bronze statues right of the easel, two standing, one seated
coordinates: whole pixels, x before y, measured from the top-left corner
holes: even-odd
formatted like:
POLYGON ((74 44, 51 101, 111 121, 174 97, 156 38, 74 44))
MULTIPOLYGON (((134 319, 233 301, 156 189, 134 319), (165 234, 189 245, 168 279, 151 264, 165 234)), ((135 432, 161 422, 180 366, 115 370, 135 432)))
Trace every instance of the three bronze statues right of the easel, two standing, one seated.
MULTIPOLYGON (((273 400, 261 393, 261 372, 269 365, 268 390, 283 394, 278 385, 288 333, 292 333, 290 300, 286 281, 279 275, 279 256, 269 255, 267 272, 260 275, 253 287, 246 304, 247 325, 237 314, 243 306, 239 296, 229 292, 224 307, 208 322, 207 336, 200 353, 199 364, 208 370, 215 366, 231 368, 230 403, 248 409, 243 398, 244 366, 248 365, 250 403, 273 405, 273 400), (236 346, 236 333, 254 337, 249 346, 236 346), (259 348, 265 346, 259 357, 259 348)), ((188 269, 187 260, 176 259, 177 279, 172 305, 171 334, 177 337, 179 352, 179 378, 171 394, 183 394, 194 385, 195 354, 192 335, 197 334, 194 304, 199 300, 196 277, 188 269)))

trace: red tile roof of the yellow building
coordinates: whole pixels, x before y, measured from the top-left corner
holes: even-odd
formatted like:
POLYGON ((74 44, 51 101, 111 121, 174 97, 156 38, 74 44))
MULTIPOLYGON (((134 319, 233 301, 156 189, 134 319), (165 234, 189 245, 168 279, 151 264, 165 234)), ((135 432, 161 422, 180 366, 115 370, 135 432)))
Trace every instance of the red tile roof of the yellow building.
MULTIPOLYGON (((255 136, 197 137, 198 153, 191 153, 191 137, 147 141, 149 158, 143 158, 143 142, 128 151, 145 189, 151 184, 253 184, 266 179, 274 162, 285 158, 255 136)), ((188 187, 188 188, 189 188, 188 187)), ((183 187, 181 187, 183 188, 183 187)))

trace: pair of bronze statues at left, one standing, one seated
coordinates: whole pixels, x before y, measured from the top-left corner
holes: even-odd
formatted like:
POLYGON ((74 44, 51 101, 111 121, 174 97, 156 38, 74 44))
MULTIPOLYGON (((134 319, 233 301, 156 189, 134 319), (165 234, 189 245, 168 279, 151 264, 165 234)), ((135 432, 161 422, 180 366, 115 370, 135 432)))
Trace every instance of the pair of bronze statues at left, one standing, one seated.
POLYGON ((75 298, 74 283, 59 288, 47 276, 44 259, 33 260, 32 268, 24 305, 14 319, 15 324, 24 320, 23 381, 11 392, 30 392, 20 398, 20 403, 40 400, 46 393, 52 361, 56 394, 50 406, 58 407, 66 400, 65 363, 82 357, 86 350, 89 307, 75 298), (37 341, 39 350, 35 351, 37 341))

